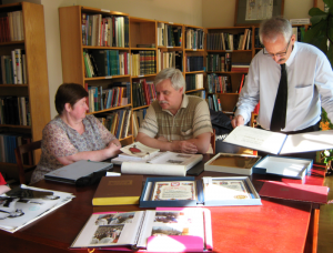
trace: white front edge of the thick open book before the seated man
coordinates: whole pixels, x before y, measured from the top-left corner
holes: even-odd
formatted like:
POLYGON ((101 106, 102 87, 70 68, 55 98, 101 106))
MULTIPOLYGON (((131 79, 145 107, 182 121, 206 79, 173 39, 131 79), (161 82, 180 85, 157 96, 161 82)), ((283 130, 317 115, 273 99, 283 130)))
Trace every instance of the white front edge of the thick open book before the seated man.
POLYGON ((184 165, 123 162, 121 173, 185 176, 186 168, 184 165))

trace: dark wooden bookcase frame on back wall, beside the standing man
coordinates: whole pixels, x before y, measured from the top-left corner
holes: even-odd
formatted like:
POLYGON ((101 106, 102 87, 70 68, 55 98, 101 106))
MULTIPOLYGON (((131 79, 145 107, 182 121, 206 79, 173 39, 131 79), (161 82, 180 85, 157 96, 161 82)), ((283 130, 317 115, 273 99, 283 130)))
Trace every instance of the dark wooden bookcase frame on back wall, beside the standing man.
MULTIPOLYGON (((254 48, 254 28, 253 27, 224 27, 224 28, 208 28, 208 36, 211 33, 229 33, 229 34, 241 34, 244 33, 245 29, 251 30, 251 48, 248 50, 218 50, 218 49, 208 49, 206 53, 210 54, 219 54, 224 55, 226 53, 230 53, 231 55, 231 64, 233 62, 240 62, 240 63, 249 63, 251 62, 252 58, 255 53, 254 48)), ((210 41, 210 43, 212 43, 210 41)), ((214 42, 215 43, 215 42, 214 42)), ((235 104, 239 99, 238 90, 240 88, 240 83, 242 81, 243 74, 248 73, 248 70, 245 71, 208 71, 208 74, 215 73, 216 75, 228 77, 231 82, 231 90, 228 93, 216 93, 218 98, 220 99, 222 111, 226 114, 232 114, 235 108, 235 104)))

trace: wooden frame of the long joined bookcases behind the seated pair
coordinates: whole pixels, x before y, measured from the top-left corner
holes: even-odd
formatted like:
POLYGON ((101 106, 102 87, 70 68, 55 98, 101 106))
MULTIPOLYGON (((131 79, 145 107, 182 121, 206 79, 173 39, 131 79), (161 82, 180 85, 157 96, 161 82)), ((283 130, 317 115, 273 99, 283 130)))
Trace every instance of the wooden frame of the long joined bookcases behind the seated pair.
MULTIPOLYGON (((133 97, 137 93, 133 91, 133 83, 141 82, 143 79, 145 81, 152 82, 154 77, 157 75, 157 71, 159 69, 159 62, 161 59, 158 57, 159 50, 161 52, 172 52, 180 51, 182 53, 182 72, 185 77, 186 74, 195 74, 203 73, 202 71, 191 71, 185 72, 185 55, 202 55, 205 59, 205 50, 204 43, 201 49, 186 49, 185 48, 185 39, 184 31, 186 29, 201 29, 199 27, 190 27, 180 23, 171 23, 164 21, 150 20, 144 18, 129 17, 127 13, 110 11, 104 9, 95 9, 82 6, 71 6, 71 7, 62 7, 59 8, 59 20, 60 20, 60 39, 61 39, 61 57, 62 57, 62 74, 63 82, 74 82, 79 83, 83 87, 102 87, 103 89, 109 87, 114 82, 130 82, 131 83, 131 103, 128 103, 123 107, 113 107, 105 110, 90 112, 93 114, 103 114, 111 113, 120 109, 130 109, 132 113, 147 109, 149 105, 135 107, 133 104, 133 97), (82 43, 82 13, 85 14, 102 14, 102 17, 109 16, 119 16, 119 17, 128 17, 129 18, 129 47, 128 48, 115 48, 115 47, 94 47, 94 45, 84 45, 82 43), (159 23, 165 23, 171 27, 181 28, 181 45, 180 47, 168 47, 168 45, 158 45, 158 26, 159 23), (147 47, 143 47, 147 44, 147 47), (152 67, 148 72, 144 73, 133 73, 127 75, 113 75, 113 77, 92 77, 85 78, 85 67, 83 59, 83 51, 87 50, 119 50, 125 51, 131 55, 131 68, 133 68, 133 54, 135 53, 152 53, 154 55, 152 67)), ((205 62, 203 62, 203 67, 205 62)), ((133 70, 133 69, 132 69, 133 70)), ((204 88, 199 89, 198 91, 202 91, 204 88)), ((196 90, 195 90, 196 91, 196 90)), ((193 91, 191 91, 193 92, 193 91)), ((123 145, 132 143, 134 141, 134 132, 133 132, 133 118, 130 122, 130 135, 120 139, 123 145)))

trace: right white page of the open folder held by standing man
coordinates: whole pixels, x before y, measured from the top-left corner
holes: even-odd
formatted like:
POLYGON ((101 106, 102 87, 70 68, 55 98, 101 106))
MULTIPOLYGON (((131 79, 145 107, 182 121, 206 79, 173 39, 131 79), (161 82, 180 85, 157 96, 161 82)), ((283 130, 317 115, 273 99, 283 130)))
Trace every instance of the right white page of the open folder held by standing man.
POLYGON ((289 135, 281 154, 333 149, 333 130, 289 135))

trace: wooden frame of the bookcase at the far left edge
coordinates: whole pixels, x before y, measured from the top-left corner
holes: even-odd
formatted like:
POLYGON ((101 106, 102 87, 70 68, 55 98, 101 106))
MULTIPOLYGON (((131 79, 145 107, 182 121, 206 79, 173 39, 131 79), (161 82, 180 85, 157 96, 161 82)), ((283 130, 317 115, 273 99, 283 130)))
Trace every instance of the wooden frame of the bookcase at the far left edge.
MULTIPOLYGON (((23 40, 0 42, 0 55, 10 55, 14 49, 26 51, 27 80, 24 84, 0 84, 0 97, 28 97, 31 126, 0 124, 1 132, 24 133, 32 141, 42 139, 42 130, 50 121, 48 64, 43 6, 20 2, 0 6, 0 16, 22 11, 23 40)), ((2 28, 1 28, 2 29, 2 28)), ((34 163, 41 151, 34 152, 34 163)), ((1 168, 13 168, 13 163, 1 163, 1 168)))

